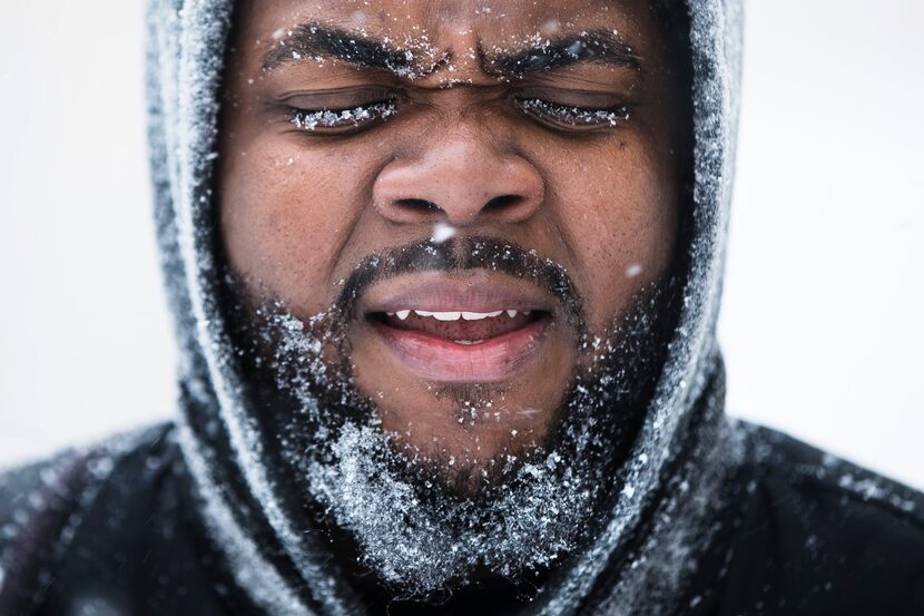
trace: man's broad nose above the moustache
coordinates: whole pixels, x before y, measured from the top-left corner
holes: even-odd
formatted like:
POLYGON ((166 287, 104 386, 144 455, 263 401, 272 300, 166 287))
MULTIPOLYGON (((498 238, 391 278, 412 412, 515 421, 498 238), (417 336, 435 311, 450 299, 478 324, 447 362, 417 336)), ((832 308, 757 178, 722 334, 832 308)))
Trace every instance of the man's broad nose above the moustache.
POLYGON ((373 186, 375 208, 403 224, 521 223, 543 198, 539 170, 480 134, 448 135, 417 156, 394 160, 373 186))

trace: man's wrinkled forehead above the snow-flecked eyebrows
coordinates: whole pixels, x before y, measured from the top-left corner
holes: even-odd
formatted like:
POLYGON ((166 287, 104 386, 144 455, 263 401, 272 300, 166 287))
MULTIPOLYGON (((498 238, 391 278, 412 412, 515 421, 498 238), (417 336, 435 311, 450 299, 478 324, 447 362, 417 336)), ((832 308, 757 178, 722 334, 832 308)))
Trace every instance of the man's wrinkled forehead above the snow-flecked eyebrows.
POLYGON ((456 57, 533 39, 618 33, 640 48, 655 35, 649 0, 246 0, 247 36, 271 43, 305 23, 336 27, 395 47, 430 47, 456 57), (271 39, 271 40, 266 40, 271 39))

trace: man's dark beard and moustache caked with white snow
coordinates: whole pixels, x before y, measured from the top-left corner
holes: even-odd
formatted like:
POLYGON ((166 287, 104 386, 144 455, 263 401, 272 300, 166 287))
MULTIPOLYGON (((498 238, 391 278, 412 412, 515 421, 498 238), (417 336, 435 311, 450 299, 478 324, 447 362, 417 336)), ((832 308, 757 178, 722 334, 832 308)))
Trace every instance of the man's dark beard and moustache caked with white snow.
MULTIPOLYGON (((667 352, 677 284, 640 289, 590 332, 566 270, 486 238, 414 244, 364 260, 337 301, 308 317, 227 276, 229 314, 265 463, 294 519, 350 544, 400 598, 434 599, 486 576, 541 576, 591 540, 619 493, 626 461, 667 352), (381 427, 355 384, 348 325, 370 285, 421 271, 478 268, 529 281, 556 297, 578 361, 542 442, 472 463, 405 442, 381 427), (298 516, 298 518, 295 518, 298 516)), ((438 388, 460 423, 490 421, 493 387, 438 388)))

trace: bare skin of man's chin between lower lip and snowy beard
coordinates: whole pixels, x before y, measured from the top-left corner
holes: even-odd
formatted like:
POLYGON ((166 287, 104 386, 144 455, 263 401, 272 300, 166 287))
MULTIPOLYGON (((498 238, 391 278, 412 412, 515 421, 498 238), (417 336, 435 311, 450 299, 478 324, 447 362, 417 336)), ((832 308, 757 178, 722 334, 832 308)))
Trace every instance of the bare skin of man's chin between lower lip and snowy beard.
POLYGON ((386 341, 366 338, 353 346, 356 388, 403 454, 438 461, 441 476, 491 476, 500 460, 544 444, 561 419, 574 358, 556 338, 548 332, 542 353, 495 382, 422 378, 386 341))

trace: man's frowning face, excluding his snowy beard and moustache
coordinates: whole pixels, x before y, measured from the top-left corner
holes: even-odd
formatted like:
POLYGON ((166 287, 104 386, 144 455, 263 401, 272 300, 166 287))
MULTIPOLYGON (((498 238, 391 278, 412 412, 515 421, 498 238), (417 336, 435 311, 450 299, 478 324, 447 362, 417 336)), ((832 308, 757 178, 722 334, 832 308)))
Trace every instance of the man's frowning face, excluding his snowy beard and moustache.
POLYGON ((511 267, 394 267, 357 287, 337 346, 406 446, 478 468, 541 444, 582 349, 672 254, 676 110, 647 2, 253 0, 237 20, 232 270, 308 320, 407 246, 554 264, 580 320, 511 267))

